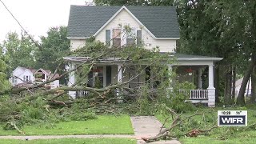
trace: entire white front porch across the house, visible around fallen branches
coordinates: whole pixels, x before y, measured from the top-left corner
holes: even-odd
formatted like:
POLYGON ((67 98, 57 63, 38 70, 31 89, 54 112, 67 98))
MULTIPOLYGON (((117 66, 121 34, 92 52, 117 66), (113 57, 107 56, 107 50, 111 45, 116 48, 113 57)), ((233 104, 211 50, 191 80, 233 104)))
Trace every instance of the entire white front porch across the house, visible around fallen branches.
MULTIPOLYGON (((210 58, 202 56, 191 56, 185 54, 174 54, 170 57, 176 57, 177 62, 169 65, 170 71, 175 71, 177 74, 178 82, 192 82, 194 83, 194 90, 178 90, 179 93, 190 96, 190 102, 192 103, 207 103, 208 106, 215 106, 215 88, 214 88, 214 62, 219 61, 222 58, 210 58)), ((86 62, 88 58, 68 58, 70 61, 70 68, 73 69, 78 63, 86 62)), ((127 82, 130 76, 133 75, 133 70, 126 70, 122 66, 122 62, 118 58, 108 58, 98 63, 88 74, 86 85, 93 87, 96 84, 96 78, 98 78, 100 86, 105 87, 114 83, 127 82)), ((146 81, 145 70, 138 78, 135 78, 133 82, 127 83, 128 87, 137 86, 143 84, 146 81)), ((171 80, 172 84, 168 90, 174 90, 174 80, 171 80)), ((69 86, 74 85, 76 82, 75 72, 69 75, 69 86)), ((115 90, 117 96, 119 90, 115 90)), ((71 98, 81 97, 88 92, 86 91, 70 91, 71 98)))

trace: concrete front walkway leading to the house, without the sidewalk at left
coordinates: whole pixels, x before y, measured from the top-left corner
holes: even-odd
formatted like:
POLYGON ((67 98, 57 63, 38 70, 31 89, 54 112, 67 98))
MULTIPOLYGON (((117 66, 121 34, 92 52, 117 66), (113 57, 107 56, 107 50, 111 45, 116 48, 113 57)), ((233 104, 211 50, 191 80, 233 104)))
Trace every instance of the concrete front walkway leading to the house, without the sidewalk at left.
MULTIPOLYGON (((142 138, 149 138, 159 133, 162 123, 158 121, 154 116, 138 116, 130 118, 133 127, 134 134, 138 144, 146 143, 142 138)), ((158 141, 150 143, 161 143, 161 144, 180 144, 177 140, 158 141)))

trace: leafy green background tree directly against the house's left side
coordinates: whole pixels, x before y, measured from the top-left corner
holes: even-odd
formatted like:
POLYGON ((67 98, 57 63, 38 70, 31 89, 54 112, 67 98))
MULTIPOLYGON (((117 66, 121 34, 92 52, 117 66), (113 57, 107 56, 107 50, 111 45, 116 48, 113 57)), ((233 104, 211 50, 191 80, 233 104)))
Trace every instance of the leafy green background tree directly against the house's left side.
MULTIPOLYGON (((49 69, 52 72, 59 67, 59 74, 62 74, 66 65, 62 63, 62 58, 70 53, 70 40, 66 38, 67 28, 66 26, 51 27, 47 36, 41 37, 41 49, 37 49, 35 58, 37 61, 36 68, 49 69)), ((66 83, 66 78, 61 79, 61 83, 66 83)))

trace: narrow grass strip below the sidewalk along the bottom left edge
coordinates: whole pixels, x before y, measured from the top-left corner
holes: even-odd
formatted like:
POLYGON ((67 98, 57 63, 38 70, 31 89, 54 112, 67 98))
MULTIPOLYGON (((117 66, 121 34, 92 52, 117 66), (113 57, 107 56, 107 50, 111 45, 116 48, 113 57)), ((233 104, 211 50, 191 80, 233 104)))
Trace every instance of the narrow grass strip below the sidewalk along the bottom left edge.
POLYGON ((60 139, 37 139, 37 140, 16 140, 1 139, 0 143, 5 144, 136 144, 135 139, 130 138, 60 138, 60 139))

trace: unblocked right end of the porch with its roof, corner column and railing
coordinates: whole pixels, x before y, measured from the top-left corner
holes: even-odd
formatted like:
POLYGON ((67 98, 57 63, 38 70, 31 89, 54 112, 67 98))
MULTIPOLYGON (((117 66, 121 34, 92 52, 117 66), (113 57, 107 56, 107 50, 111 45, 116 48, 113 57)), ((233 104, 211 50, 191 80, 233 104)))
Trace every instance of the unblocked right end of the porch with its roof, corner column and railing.
MULTIPOLYGON (((194 90, 178 90, 180 93, 190 96, 192 103, 207 103, 208 106, 215 106, 214 88, 214 62, 222 58, 211 58, 206 56, 173 54, 178 62, 169 65, 169 70, 175 70, 178 74, 178 81, 194 83, 194 90)), ((172 81, 172 80, 170 80, 172 81)), ((173 90, 173 86, 170 86, 173 90)))

